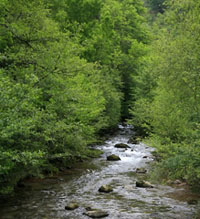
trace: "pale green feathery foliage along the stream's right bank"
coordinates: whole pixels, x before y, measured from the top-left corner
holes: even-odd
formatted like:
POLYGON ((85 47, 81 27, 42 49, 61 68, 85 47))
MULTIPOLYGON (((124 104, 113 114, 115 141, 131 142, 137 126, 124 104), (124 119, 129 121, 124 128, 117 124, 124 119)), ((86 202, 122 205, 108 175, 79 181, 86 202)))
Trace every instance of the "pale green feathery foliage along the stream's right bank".
POLYGON ((158 169, 164 178, 199 185, 200 1, 166 1, 166 6, 152 27, 132 123, 150 134, 163 158, 158 169))

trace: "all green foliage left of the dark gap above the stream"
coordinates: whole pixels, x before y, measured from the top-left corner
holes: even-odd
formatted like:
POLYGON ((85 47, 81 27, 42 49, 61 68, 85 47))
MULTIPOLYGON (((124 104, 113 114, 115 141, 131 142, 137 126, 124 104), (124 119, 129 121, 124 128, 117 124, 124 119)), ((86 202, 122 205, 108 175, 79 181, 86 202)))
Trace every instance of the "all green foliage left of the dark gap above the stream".
POLYGON ((0 1, 0 194, 128 116, 144 13, 140 0, 0 1))

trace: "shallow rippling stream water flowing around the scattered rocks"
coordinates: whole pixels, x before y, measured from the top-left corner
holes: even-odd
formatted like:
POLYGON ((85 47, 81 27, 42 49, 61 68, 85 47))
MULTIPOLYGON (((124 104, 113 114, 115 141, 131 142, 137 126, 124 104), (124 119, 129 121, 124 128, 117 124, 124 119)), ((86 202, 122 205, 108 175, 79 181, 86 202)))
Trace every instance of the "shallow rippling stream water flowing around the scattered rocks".
MULTIPOLYGON (((62 176, 32 180, 8 202, 0 203, 2 219, 88 219, 83 215, 86 207, 105 210, 109 219, 192 219, 199 207, 189 205, 199 197, 185 187, 154 185, 154 188, 137 188, 136 168, 149 171, 153 162, 152 148, 143 143, 128 144, 131 148, 117 149, 117 143, 127 143, 132 131, 119 126, 119 132, 97 148, 104 151, 101 158, 78 164, 62 176), (110 154, 120 161, 107 161, 110 154), (146 156, 147 158, 144 158, 146 156), (114 191, 99 193, 98 189, 109 184, 114 191), (77 202, 80 207, 68 211, 67 203, 77 202)), ((199 202, 198 202, 199 203, 199 202)))

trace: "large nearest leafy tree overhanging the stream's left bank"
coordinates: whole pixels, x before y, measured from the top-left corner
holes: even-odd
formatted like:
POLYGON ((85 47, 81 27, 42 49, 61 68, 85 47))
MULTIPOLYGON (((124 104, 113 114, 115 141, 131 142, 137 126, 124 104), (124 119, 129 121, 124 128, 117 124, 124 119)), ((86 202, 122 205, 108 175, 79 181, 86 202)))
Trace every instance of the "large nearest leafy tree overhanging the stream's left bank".
POLYGON ((0 32, 10 36, 0 56, 3 193, 52 168, 55 158, 84 153, 105 126, 105 100, 98 66, 80 58, 79 45, 59 31, 42 1, 1 6, 0 32))

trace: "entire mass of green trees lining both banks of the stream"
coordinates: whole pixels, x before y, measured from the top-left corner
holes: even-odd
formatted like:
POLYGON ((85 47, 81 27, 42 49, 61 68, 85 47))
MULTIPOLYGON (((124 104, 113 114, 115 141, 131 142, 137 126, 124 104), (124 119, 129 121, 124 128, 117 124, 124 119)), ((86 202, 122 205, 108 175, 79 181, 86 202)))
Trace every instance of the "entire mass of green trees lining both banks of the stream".
POLYGON ((199 6, 1 0, 0 194, 91 155, 88 145, 127 118, 162 156, 159 177, 197 185, 199 6))

